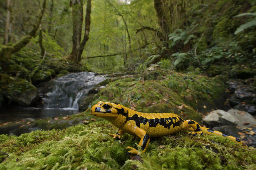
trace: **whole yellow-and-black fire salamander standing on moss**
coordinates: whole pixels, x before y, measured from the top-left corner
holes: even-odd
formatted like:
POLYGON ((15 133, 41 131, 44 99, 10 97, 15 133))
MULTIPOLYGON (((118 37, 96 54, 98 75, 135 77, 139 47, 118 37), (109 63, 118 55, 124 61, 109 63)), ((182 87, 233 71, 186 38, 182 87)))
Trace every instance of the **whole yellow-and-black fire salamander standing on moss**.
MULTIPOLYGON (((123 133, 138 136, 140 138, 138 145, 143 150, 143 153, 146 151, 151 137, 165 136, 177 133, 180 130, 190 130, 192 132, 189 135, 193 136, 203 135, 203 133, 214 133, 249 147, 247 143, 233 136, 202 127, 194 120, 183 120, 174 113, 141 113, 116 102, 98 102, 96 105, 93 105, 91 112, 93 115, 104 118, 119 128, 116 134, 109 133, 114 139, 116 137, 120 139, 123 133)), ((128 146, 126 149, 130 149, 127 154, 140 154, 133 147, 128 146)))

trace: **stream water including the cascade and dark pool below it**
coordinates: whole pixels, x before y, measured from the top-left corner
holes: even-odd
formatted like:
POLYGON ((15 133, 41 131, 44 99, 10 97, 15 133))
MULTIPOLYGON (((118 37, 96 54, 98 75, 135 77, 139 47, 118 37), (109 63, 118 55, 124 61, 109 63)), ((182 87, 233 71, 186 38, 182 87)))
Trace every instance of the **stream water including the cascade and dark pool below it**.
POLYGON ((44 83, 47 88, 40 92, 43 107, 15 107, 1 110, 0 123, 25 118, 41 119, 66 116, 79 112, 79 102, 94 85, 105 77, 92 72, 71 73, 44 83))

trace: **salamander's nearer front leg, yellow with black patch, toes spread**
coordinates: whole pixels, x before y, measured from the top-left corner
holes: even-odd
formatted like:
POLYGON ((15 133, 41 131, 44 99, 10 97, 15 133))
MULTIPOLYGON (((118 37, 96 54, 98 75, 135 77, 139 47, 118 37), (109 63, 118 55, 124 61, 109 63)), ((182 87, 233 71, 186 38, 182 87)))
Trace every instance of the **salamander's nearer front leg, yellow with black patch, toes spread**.
MULTIPOLYGON (((135 135, 137 135, 140 138, 140 142, 138 145, 140 146, 141 150, 143 150, 143 153, 144 153, 148 147, 150 137, 145 132, 145 130, 140 129, 137 126, 134 126, 134 133, 135 133, 135 135)), ((126 147, 126 149, 130 149, 127 154, 131 154, 131 153, 135 154, 135 155, 140 154, 140 152, 133 147, 128 146, 128 147, 126 147)))

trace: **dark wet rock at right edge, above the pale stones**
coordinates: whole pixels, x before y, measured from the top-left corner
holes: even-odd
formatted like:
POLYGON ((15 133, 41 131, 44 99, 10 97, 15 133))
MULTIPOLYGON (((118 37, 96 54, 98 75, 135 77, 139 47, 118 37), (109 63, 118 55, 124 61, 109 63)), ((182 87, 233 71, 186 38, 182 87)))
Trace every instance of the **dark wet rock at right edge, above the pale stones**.
POLYGON ((256 114, 256 78, 230 79, 228 86, 232 96, 230 105, 235 109, 256 114))

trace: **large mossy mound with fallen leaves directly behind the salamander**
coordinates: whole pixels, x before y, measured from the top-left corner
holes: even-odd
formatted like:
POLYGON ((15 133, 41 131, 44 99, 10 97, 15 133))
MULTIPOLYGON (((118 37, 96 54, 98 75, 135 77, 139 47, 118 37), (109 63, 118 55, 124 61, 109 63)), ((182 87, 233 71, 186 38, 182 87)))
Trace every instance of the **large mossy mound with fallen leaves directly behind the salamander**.
POLYGON ((94 96, 96 100, 92 105, 99 101, 113 101, 140 112, 176 113, 184 119, 201 121, 201 115, 186 105, 174 91, 161 85, 160 81, 130 80, 127 78, 111 82, 94 96))

